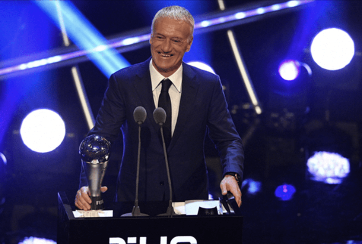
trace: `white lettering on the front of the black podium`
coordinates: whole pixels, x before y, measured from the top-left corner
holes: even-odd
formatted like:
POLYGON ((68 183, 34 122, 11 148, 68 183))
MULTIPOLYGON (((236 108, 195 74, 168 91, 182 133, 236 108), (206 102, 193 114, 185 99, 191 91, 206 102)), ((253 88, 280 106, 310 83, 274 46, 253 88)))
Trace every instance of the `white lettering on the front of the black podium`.
MULTIPOLYGON (((196 238, 193 236, 175 236, 172 238, 170 244, 177 244, 177 243, 185 243, 188 242, 190 244, 197 244, 196 238)), ((109 244, 135 244, 137 243, 137 237, 129 237, 127 238, 127 243, 120 237, 110 237, 109 244)), ((147 244, 147 238, 142 236, 139 238, 139 244, 147 244)), ((160 237, 160 244, 167 244, 167 236, 160 237)))

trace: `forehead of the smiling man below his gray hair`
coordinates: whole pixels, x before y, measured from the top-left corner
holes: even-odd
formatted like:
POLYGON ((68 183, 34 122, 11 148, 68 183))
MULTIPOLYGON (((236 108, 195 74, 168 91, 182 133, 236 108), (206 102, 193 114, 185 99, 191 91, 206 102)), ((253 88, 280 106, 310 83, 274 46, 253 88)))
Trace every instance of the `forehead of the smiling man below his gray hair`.
POLYGON ((177 19, 171 19, 168 17, 160 17, 155 20, 155 26, 153 32, 163 35, 181 35, 189 36, 191 26, 185 21, 179 21, 177 19))

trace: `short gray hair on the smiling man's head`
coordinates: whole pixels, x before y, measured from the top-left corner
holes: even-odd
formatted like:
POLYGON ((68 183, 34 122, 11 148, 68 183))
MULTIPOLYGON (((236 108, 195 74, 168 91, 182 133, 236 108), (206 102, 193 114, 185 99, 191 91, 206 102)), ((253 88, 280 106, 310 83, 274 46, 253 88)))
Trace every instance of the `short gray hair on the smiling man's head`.
POLYGON ((194 34, 194 17, 190 14, 189 10, 185 9, 184 7, 173 5, 168 6, 163 9, 160 9, 155 17, 152 20, 152 27, 151 27, 151 35, 153 34, 153 29, 155 27, 155 22, 157 18, 167 17, 170 19, 176 19, 178 21, 184 21, 190 25, 190 36, 194 34))

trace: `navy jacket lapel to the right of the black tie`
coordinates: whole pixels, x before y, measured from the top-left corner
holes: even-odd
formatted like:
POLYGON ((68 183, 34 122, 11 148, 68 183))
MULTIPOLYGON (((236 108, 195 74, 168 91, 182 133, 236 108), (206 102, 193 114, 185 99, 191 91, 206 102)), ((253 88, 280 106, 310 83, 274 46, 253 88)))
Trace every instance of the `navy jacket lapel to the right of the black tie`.
POLYGON ((199 81, 195 78, 195 72, 191 70, 190 66, 182 63, 183 65, 183 74, 182 74, 182 93, 180 100, 180 108, 178 110, 177 123, 171 143, 167 151, 171 151, 173 145, 176 143, 177 139, 180 137, 182 130, 185 124, 189 121, 189 113, 191 111, 194 100, 196 99, 199 81))

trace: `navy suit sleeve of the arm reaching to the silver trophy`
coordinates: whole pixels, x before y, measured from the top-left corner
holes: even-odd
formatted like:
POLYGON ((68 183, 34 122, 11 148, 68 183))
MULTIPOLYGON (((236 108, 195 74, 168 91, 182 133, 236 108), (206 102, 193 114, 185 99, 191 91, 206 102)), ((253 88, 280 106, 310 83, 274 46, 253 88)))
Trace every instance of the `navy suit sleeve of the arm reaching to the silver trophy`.
MULTIPOLYGON (((126 120, 125 103, 122 99, 119 84, 112 74, 108 81, 108 87, 104 93, 101 108, 98 111, 96 124, 88 132, 88 135, 97 134, 111 142, 117 139, 120 128, 126 120)), ((88 186, 83 165, 81 167, 79 188, 88 186)))

